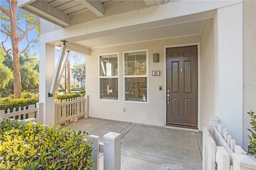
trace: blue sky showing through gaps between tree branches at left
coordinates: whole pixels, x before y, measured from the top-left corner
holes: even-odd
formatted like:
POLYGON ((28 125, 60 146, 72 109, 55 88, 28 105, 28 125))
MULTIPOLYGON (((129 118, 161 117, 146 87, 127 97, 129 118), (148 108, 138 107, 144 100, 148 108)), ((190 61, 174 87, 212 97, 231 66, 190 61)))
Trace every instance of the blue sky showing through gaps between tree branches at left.
MULTIPOLYGON (((8 4, 8 2, 6 2, 6 0, 0 0, 0 5, 1 5, 1 6, 7 6, 7 7, 9 7, 9 4, 8 4)), ((2 22, 2 20, 0 20, 0 22, 2 22)), ((18 25, 20 26, 20 28, 22 28, 22 29, 25 30, 26 25, 25 25, 25 21, 24 21, 24 20, 20 20, 19 23, 18 23, 18 25)), ((1 29, 2 29, 2 28, 1 28, 1 29)), ((35 29, 32 30, 32 31, 30 31, 30 32, 28 32, 28 40, 32 40, 32 39, 36 38, 36 36, 37 36, 37 33, 36 33, 36 30, 35 30, 35 29)), ((4 33, 0 32, 0 42, 5 41, 5 40, 6 40, 6 35, 5 35, 4 33)), ((27 45, 27 41, 26 41, 26 38, 24 38, 24 40, 22 40, 22 41, 19 43, 19 48, 20 48, 20 50, 24 49, 24 48, 26 47, 26 45, 27 45)), ((35 44, 35 43, 34 43, 34 45, 35 45, 35 47, 31 47, 31 45, 30 45, 30 51, 31 51, 32 53, 36 53, 36 57, 39 59, 39 54, 40 54, 40 53, 39 53, 39 44, 35 44)), ((9 49, 9 48, 12 47, 10 38, 8 38, 8 40, 4 43, 4 46, 6 47, 6 49, 9 49)), ((58 54, 59 54, 59 51, 56 50, 56 51, 55 51, 55 64, 56 64, 57 61, 58 61, 58 54)), ((70 57, 69 57, 69 59, 70 59, 70 65, 74 65, 74 64, 75 64, 75 62, 74 62, 74 56, 76 56, 76 55, 70 53, 70 57)), ((84 56, 82 56, 82 55, 77 55, 77 56, 81 59, 81 61, 85 61, 85 57, 84 57, 84 56)))

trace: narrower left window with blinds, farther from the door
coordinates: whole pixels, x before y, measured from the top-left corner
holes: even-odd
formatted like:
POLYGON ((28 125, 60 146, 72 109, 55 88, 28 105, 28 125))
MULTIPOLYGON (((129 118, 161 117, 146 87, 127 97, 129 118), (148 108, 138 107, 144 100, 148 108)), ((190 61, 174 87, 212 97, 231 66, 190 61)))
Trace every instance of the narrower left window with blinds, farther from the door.
POLYGON ((100 55, 100 99, 118 100, 118 54, 100 55))

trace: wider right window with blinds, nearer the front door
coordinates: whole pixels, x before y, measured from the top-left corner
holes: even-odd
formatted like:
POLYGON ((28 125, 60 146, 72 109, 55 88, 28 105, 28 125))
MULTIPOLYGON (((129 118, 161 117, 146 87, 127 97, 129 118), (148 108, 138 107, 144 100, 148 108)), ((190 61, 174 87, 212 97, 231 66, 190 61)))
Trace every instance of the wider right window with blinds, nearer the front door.
POLYGON ((124 53, 126 101, 147 101, 147 51, 124 53))

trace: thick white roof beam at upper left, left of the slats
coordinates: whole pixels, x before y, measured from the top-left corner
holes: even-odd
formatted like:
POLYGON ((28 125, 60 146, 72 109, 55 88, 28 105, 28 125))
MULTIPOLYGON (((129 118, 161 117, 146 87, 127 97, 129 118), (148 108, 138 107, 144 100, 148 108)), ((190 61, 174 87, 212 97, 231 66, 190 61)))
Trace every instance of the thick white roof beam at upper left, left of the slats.
MULTIPOLYGON (((50 16, 48 18, 49 21, 56 23, 58 25, 59 23, 63 23, 62 26, 70 25, 70 17, 67 14, 58 10, 54 6, 51 6, 50 4, 44 2, 43 0, 37 0, 31 3, 30 5, 38 9, 42 13, 42 16, 44 17, 40 16, 40 14, 39 15, 37 14, 38 16, 45 18, 45 14, 48 14, 50 16), (56 20, 59 20, 59 21, 56 21, 56 20)), ((26 9, 26 8, 24 9, 29 11, 29 9, 26 9)))

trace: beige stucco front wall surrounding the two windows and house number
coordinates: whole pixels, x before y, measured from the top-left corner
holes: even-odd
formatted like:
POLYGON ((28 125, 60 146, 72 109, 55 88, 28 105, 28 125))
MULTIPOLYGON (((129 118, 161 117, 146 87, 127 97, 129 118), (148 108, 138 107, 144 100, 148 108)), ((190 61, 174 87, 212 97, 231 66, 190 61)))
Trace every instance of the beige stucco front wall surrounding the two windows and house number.
POLYGON ((86 95, 90 95, 90 117, 165 126, 165 56, 164 46, 200 43, 201 36, 188 36, 152 42, 117 45, 115 47, 95 48, 86 57, 86 95), (148 50, 148 103, 124 101, 124 56, 125 51, 148 50), (99 100, 98 55, 118 52, 119 63, 119 101, 99 100), (159 53, 160 62, 153 63, 153 53, 159 53), (159 70, 160 76, 152 76, 159 70), (162 86, 162 91, 159 90, 162 86), (123 112, 125 108, 125 112, 123 112))

